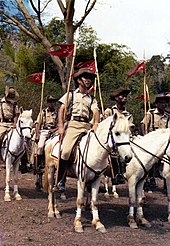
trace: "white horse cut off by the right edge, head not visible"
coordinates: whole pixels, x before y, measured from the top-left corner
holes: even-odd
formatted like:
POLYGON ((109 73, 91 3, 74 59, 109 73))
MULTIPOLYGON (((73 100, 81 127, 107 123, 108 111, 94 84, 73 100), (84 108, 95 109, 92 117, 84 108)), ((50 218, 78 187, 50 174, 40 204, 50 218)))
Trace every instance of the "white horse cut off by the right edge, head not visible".
POLYGON ((168 187, 170 221, 170 129, 158 129, 131 142, 133 158, 126 166, 126 178, 129 187, 129 215, 128 224, 131 228, 138 225, 151 227, 143 214, 143 185, 146 175, 152 166, 161 158, 168 164, 168 175, 165 175, 168 187), (168 158, 163 157, 167 155, 168 158), (135 207, 137 207, 135 218, 135 207))

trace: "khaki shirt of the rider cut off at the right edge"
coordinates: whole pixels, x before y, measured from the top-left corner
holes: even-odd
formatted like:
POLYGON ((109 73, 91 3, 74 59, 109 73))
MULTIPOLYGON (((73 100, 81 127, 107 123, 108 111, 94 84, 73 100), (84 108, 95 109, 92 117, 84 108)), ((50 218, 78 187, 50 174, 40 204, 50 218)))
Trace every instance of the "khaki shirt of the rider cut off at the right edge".
POLYGON ((146 118, 144 117, 141 123, 147 122, 148 132, 151 132, 159 128, 170 128, 169 119, 170 115, 168 113, 165 112, 162 115, 156 108, 150 109, 146 114, 146 118))

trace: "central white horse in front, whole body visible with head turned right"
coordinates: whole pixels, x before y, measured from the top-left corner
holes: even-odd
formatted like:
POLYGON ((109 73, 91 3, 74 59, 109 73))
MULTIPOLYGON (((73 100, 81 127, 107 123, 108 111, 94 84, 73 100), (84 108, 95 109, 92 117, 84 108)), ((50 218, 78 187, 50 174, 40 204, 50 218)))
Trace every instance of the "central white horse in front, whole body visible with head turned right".
MULTIPOLYGON (((129 122, 124 116, 110 116, 99 123, 96 133, 89 131, 82 137, 77 150, 76 165, 72 165, 77 176, 77 210, 74 221, 76 232, 83 232, 81 223, 82 206, 84 205, 84 192, 87 185, 91 186, 91 210, 93 215, 92 225, 101 232, 105 232, 105 226, 100 222, 97 208, 97 196, 100 185, 100 176, 108 165, 108 156, 117 148, 121 158, 129 162, 132 158, 129 143, 129 122)), ((45 147, 46 168, 45 188, 49 192, 48 216, 60 217, 57 208, 56 197, 53 197, 54 172, 58 167, 57 159, 51 155, 54 143, 49 142, 45 147), (54 198, 54 199, 53 199, 54 198)), ((76 177, 75 176, 75 177, 76 177)), ((55 192, 54 192, 55 193, 55 192)))

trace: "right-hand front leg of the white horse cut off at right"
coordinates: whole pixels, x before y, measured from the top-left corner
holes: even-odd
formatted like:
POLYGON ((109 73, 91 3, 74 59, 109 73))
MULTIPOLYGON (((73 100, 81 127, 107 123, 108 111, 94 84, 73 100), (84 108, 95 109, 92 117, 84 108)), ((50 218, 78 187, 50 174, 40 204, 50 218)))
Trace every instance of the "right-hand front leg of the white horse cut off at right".
POLYGON ((143 215, 143 196, 142 196, 143 186, 144 186, 144 180, 141 180, 136 186, 136 193, 137 193, 137 223, 138 223, 138 225, 150 228, 151 224, 149 223, 149 221, 147 221, 144 218, 144 215, 143 215))

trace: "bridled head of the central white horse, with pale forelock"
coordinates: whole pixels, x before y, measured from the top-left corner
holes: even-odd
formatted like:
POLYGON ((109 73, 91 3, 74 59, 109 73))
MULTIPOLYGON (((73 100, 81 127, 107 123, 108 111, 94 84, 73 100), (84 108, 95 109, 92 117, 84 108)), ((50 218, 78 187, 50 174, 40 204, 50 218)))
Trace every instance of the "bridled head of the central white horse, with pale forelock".
POLYGON ((108 144, 113 150, 117 150, 126 163, 132 159, 130 147, 130 125, 124 115, 114 114, 109 128, 108 144))

